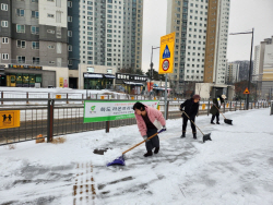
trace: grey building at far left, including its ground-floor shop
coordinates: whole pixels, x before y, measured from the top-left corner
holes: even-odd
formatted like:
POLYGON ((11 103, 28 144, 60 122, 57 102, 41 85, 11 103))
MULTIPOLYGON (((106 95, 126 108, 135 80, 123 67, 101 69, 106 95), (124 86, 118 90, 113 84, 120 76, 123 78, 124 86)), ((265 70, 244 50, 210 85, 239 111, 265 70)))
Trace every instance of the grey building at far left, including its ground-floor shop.
POLYGON ((58 86, 57 69, 68 67, 67 1, 1 0, 0 7, 1 85, 58 86))

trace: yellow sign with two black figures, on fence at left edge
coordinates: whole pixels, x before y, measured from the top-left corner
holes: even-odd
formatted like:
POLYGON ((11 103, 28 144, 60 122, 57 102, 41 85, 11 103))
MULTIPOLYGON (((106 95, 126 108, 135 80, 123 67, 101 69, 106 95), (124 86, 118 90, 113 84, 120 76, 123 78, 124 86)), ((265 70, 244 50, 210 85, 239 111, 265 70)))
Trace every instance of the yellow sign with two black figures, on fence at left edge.
POLYGON ((20 126, 20 110, 0 111, 0 129, 20 126))

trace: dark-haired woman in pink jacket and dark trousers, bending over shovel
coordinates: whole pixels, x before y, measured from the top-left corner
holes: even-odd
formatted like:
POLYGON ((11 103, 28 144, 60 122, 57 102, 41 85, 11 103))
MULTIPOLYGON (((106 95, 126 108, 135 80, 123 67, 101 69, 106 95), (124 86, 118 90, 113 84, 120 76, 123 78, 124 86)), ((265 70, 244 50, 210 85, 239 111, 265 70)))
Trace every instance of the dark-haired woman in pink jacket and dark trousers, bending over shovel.
MULTIPOLYGON (((145 106, 141 102, 135 102, 133 106, 136 123, 140 133, 144 141, 157 132, 157 130, 166 129, 166 121, 162 112, 155 108, 145 106)), ((147 153, 144 157, 153 155, 153 148, 155 148, 154 154, 159 152, 159 137, 158 135, 145 142, 147 153)))

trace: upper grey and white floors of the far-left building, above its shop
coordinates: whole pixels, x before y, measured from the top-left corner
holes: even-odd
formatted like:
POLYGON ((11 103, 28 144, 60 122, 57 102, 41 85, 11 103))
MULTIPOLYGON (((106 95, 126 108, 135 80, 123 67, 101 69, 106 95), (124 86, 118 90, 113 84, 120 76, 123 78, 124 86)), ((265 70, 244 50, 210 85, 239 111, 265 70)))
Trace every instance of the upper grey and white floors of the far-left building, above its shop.
POLYGON ((1 63, 67 67, 67 1, 2 0, 1 63))

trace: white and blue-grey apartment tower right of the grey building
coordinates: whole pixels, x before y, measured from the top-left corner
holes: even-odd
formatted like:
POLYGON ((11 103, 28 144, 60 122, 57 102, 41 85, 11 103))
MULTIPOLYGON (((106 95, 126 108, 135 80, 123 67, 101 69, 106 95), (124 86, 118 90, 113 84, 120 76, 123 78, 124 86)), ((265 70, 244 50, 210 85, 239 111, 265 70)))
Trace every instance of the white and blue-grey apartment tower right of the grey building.
POLYGON ((143 0, 68 1, 69 69, 141 69, 143 0))

